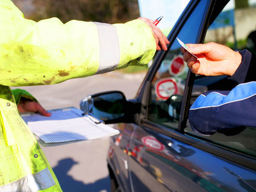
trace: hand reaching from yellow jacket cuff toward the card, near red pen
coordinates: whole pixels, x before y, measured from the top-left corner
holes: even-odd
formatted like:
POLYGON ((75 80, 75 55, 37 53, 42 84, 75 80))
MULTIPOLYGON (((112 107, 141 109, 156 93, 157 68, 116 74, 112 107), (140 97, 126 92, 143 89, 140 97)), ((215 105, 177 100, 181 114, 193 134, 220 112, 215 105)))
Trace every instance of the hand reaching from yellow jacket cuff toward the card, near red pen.
POLYGON ((170 44, 170 42, 168 41, 166 36, 164 36, 162 31, 159 28, 157 28, 157 26, 155 26, 153 24, 154 20, 150 20, 145 17, 140 17, 139 19, 143 20, 150 27, 150 29, 154 35, 154 38, 156 40, 157 50, 163 49, 164 51, 167 51, 166 44, 170 44))

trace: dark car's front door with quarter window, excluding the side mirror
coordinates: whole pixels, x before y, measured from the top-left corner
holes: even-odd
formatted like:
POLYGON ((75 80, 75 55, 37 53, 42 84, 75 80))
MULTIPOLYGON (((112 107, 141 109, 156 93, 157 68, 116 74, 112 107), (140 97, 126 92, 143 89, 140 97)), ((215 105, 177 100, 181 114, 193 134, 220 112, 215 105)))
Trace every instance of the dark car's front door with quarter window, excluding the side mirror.
POLYGON ((186 43, 202 42, 209 24, 226 3, 207 0, 189 3, 169 36, 168 52, 157 55, 138 93, 141 99, 138 124, 120 124, 133 130, 127 152, 132 191, 255 189, 252 158, 243 160, 246 158, 243 155, 188 134, 189 104, 207 91, 207 86, 193 86, 195 76, 182 63, 175 37, 186 43))

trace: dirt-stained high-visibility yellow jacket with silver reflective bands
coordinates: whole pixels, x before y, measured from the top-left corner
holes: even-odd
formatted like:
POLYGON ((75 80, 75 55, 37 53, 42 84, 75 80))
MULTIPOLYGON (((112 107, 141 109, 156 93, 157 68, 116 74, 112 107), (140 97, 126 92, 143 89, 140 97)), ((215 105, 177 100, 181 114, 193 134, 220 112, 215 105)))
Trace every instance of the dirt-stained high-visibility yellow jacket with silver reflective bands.
POLYGON ((61 191, 35 137, 22 121, 9 86, 54 84, 127 65, 148 63, 156 51, 141 20, 101 24, 56 18, 24 19, 0 1, 0 191, 61 191))

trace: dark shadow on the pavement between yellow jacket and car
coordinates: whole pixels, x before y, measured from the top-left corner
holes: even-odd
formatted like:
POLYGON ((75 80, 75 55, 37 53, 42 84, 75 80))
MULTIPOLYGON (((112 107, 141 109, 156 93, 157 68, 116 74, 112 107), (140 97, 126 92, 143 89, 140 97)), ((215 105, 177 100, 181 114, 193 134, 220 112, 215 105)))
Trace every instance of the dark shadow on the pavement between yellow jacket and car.
MULTIPOLYGON (((61 159, 57 166, 53 169, 56 177, 60 182, 63 191, 109 191, 110 179, 109 177, 99 179, 94 183, 84 184, 79 180, 75 180, 72 176, 68 175, 68 171, 77 164, 72 158, 61 159)), ((84 173, 86 174, 86 172, 84 173)))

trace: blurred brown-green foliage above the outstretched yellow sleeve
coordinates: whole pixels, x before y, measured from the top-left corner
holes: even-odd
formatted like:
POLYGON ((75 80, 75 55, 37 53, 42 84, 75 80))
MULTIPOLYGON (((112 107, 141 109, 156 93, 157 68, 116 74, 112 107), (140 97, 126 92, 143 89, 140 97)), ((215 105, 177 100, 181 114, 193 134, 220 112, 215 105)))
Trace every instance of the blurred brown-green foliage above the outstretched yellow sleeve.
POLYGON ((62 22, 86 20, 127 22, 140 17, 137 0, 13 0, 25 17, 42 20, 58 17, 62 22))

